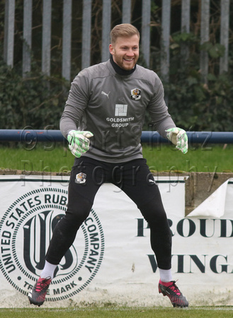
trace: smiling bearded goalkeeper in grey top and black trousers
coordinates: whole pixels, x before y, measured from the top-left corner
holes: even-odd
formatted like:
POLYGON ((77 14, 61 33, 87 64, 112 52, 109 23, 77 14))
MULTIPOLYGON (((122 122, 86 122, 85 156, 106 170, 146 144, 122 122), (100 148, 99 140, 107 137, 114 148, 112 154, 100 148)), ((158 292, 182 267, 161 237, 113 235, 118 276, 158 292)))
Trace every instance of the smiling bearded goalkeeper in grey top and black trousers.
POLYGON ((110 59, 80 71, 72 82, 60 121, 76 157, 68 206, 53 232, 45 268, 28 295, 34 305, 45 301, 55 269, 89 216, 101 184, 111 182, 137 204, 149 224, 159 267, 159 293, 168 296, 174 307, 188 306, 172 278, 171 231, 159 189, 142 157, 145 113, 149 112, 154 130, 182 153, 188 151, 188 138, 171 119, 157 74, 137 64, 139 42, 140 33, 134 26, 116 25, 110 33, 110 59))

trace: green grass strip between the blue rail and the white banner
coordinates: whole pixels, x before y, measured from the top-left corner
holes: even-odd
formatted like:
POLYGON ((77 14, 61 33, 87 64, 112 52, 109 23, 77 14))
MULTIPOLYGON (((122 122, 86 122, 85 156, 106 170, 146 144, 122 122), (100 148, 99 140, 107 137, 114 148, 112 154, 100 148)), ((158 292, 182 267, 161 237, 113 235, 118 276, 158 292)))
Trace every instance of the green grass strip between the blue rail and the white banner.
MULTIPOLYGON (((150 169, 159 172, 233 172, 233 145, 190 148, 186 155, 172 145, 143 145, 143 155, 150 169)), ((72 153, 59 144, 53 148, 38 144, 31 151, 22 146, 0 148, 1 169, 64 172, 71 170, 73 163, 72 153)))

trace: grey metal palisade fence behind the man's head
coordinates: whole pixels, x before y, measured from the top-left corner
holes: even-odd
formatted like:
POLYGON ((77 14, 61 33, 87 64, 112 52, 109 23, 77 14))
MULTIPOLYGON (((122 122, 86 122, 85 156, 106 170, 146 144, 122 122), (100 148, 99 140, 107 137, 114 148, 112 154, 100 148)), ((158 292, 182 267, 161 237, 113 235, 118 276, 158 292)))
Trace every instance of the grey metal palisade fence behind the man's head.
MULTIPOLYGON (((93 1, 83 0, 82 4, 82 49, 81 49, 81 69, 91 64, 91 10, 93 1)), ((120 1, 119 1, 120 2, 120 1)), ((144 61, 149 67, 150 49, 154 39, 151 39, 151 0, 142 1, 142 53, 144 61)), ((123 23, 131 22, 132 1, 122 0, 123 23)), ((161 76, 164 81, 169 81, 169 47, 170 47, 170 25, 171 6, 173 0, 161 1, 161 76)), ((199 1, 200 12, 200 43, 210 40, 210 0, 199 1)), ((220 73, 228 71, 228 46, 229 46, 229 5, 230 0, 221 0, 220 3, 220 44, 225 46, 225 53, 220 57, 220 73)), ((4 22, 4 60, 13 66, 14 51, 14 25, 15 25, 15 0, 5 1, 5 22, 4 22)), ((101 59, 106 61, 109 58, 108 45, 109 33, 112 23, 112 1, 103 0, 102 3, 102 33, 101 38, 101 59)), ((137 8, 135 9, 137 10, 137 8)), ((33 0, 23 0, 23 74, 30 71, 33 28, 33 0)), ((50 53, 52 38, 52 0, 43 0, 42 6, 42 66, 41 69, 50 75, 50 53)), ((191 0, 181 0, 181 33, 190 33, 191 23, 191 0)), ((62 76, 70 81, 72 68, 72 0, 63 1, 63 21, 62 21, 62 76)), ((156 39, 155 39, 156 40, 156 39)), ((184 59, 188 57, 188 45, 183 45, 182 51, 184 59)), ((208 52, 200 51, 200 73, 205 79, 208 75, 208 52)))

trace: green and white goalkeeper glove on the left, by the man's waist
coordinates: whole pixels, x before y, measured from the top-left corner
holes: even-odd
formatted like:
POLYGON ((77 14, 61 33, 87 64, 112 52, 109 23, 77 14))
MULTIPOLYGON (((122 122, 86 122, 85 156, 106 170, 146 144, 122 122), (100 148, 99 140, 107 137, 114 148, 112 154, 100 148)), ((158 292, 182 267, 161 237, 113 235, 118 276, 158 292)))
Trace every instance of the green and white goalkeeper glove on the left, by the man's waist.
POLYGON ((93 134, 91 131, 78 131, 71 130, 67 136, 69 141, 69 150, 72 152, 75 157, 79 158, 81 155, 86 153, 89 150, 90 141, 93 134))

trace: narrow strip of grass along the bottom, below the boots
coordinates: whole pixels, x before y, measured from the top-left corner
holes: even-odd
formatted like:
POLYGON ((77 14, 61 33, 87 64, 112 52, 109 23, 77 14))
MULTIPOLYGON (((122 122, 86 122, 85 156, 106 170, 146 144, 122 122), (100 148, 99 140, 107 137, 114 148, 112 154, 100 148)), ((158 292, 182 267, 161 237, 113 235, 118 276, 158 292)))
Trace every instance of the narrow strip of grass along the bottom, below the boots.
POLYGON ((88 308, 57 308, 57 309, 0 309, 0 317, 147 317, 147 318, 180 318, 180 317, 233 317, 233 307, 88 307, 88 308))

